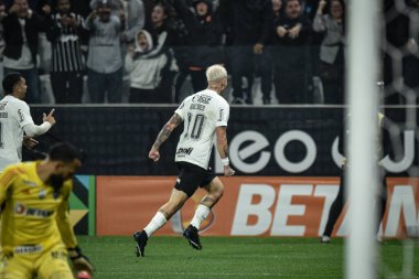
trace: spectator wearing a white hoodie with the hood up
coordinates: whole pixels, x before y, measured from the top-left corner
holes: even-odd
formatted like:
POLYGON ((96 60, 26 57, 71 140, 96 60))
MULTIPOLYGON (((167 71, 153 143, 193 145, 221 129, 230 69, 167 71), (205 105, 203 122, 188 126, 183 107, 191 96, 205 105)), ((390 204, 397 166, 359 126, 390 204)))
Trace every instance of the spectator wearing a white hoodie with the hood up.
POLYGON ((146 30, 138 32, 136 49, 128 49, 125 58, 125 68, 130 73, 129 103, 160 103, 157 88, 168 57, 158 52, 153 50, 150 33, 146 30))

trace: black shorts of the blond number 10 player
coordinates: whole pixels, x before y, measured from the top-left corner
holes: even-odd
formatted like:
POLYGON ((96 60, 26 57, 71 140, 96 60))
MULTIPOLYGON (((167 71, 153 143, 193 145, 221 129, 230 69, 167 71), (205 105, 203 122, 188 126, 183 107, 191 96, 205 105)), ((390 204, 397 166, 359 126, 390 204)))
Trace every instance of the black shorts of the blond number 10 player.
POLYGON ((205 170, 186 162, 178 162, 176 165, 180 173, 174 187, 179 191, 185 192, 189 197, 195 193, 197 187, 203 187, 215 179, 215 174, 211 168, 205 170))

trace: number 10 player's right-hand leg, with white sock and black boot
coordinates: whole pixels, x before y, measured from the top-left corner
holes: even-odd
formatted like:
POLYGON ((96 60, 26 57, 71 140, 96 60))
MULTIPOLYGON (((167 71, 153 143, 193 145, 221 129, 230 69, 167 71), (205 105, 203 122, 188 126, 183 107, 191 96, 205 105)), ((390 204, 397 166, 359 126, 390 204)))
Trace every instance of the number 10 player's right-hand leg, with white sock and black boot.
POLYGON ((224 185, 218 178, 215 178, 210 184, 204 186, 208 192, 207 195, 202 198, 201 204, 195 211, 195 215, 192 218, 191 225, 187 226, 183 236, 187 239, 194 249, 201 250, 202 245, 200 242, 201 223, 208 216, 211 208, 222 198, 224 193, 224 185))

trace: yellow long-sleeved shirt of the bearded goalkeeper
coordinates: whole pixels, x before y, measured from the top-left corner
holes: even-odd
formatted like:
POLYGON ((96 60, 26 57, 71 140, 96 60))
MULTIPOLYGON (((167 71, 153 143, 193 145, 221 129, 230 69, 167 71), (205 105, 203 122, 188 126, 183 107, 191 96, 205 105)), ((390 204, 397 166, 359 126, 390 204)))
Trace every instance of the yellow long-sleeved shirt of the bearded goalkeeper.
POLYGON ((13 164, 0 175, 1 247, 4 253, 42 253, 77 245, 68 217, 73 181, 60 193, 37 175, 36 162, 13 164))

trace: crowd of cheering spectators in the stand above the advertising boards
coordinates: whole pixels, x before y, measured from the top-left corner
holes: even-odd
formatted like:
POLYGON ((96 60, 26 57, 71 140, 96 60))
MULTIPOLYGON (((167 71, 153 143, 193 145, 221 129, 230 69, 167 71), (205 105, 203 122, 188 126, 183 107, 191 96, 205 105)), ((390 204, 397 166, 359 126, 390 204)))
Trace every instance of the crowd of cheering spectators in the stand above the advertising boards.
MULTIPOLYGON (((384 2, 386 103, 402 105, 418 95, 419 32, 399 30, 419 1, 400 17, 384 2)), ((232 104, 343 104, 345 13, 343 0, 0 0, 0 67, 24 76, 29 104, 178 104, 216 63, 232 104)))

